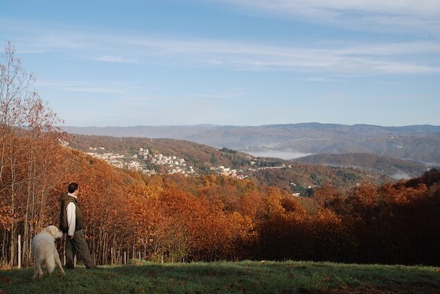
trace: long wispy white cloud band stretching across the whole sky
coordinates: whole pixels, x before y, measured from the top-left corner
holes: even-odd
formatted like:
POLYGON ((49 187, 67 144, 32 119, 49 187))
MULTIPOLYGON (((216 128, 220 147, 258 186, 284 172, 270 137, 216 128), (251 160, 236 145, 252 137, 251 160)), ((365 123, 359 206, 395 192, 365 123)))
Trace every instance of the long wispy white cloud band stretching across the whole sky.
MULTIPOLYGON (((20 26, 16 29, 20 30, 20 26)), ((37 26, 33 26, 32 33, 23 34, 28 35, 21 35, 18 39, 19 48, 25 48, 28 53, 64 50, 72 59, 92 59, 99 62, 160 63, 188 67, 221 66, 234 71, 319 71, 344 75, 440 72, 438 58, 427 59, 429 55, 439 55, 440 45, 436 41, 334 41, 275 46, 264 42, 223 39, 171 39, 76 30, 63 32, 47 28, 37 30, 37 26)))

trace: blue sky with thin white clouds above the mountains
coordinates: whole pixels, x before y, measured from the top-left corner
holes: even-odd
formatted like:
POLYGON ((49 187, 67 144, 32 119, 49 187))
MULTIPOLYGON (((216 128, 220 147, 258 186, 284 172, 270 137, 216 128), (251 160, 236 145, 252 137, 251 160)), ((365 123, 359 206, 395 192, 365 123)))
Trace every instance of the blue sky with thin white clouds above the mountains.
POLYGON ((439 0, 3 0, 68 126, 440 125, 439 0))

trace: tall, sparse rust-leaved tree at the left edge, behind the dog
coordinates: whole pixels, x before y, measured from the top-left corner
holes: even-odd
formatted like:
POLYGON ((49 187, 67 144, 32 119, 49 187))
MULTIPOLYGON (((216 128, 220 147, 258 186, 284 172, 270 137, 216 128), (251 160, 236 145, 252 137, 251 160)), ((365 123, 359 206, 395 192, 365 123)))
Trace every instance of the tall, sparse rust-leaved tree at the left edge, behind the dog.
POLYGON ((1 259, 17 262, 17 235, 24 236, 25 262, 30 238, 41 229, 48 192, 53 185, 53 146, 60 120, 32 89, 28 73, 8 42, 0 64, 0 235, 1 259))

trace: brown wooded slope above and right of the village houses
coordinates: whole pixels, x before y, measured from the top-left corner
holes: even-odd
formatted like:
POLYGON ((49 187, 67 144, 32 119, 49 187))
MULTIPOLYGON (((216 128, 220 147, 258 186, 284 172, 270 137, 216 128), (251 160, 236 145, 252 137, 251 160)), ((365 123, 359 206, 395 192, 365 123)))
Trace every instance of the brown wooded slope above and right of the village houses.
MULTIPOLYGON (((310 194, 310 187, 324 183, 345 190, 366 181, 376 184, 391 181, 391 178, 384 174, 352 167, 327 167, 280 158, 255 158, 231 149, 216 149, 186 140, 78 135, 69 136, 69 143, 71 147, 82 151, 88 151, 89 147, 103 147, 107 151, 129 156, 136 154, 139 148, 149 149, 152 155, 164 154, 184 158, 188 165, 195 167, 197 174, 215 174, 218 173, 216 167, 223 166, 238 169, 240 175, 258 183, 274 185, 288 192, 301 192, 301 194, 310 194)), ((166 173, 164 169, 152 166, 151 168, 166 173)))

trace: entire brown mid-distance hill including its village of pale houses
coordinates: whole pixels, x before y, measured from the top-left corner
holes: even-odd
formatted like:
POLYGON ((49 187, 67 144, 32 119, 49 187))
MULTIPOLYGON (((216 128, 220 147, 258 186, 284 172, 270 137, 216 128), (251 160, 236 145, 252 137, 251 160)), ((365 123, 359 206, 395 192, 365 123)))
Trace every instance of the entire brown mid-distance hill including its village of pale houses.
POLYGON ((223 147, 200 145, 186 140, 69 136, 70 147, 100 158, 114 167, 136 170, 149 176, 215 174, 249 178, 273 185, 296 196, 311 196, 326 183, 344 191, 362 183, 378 185, 393 181, 386 174, 353 167, 332 167, 295 160, 256 157, 223 147))

